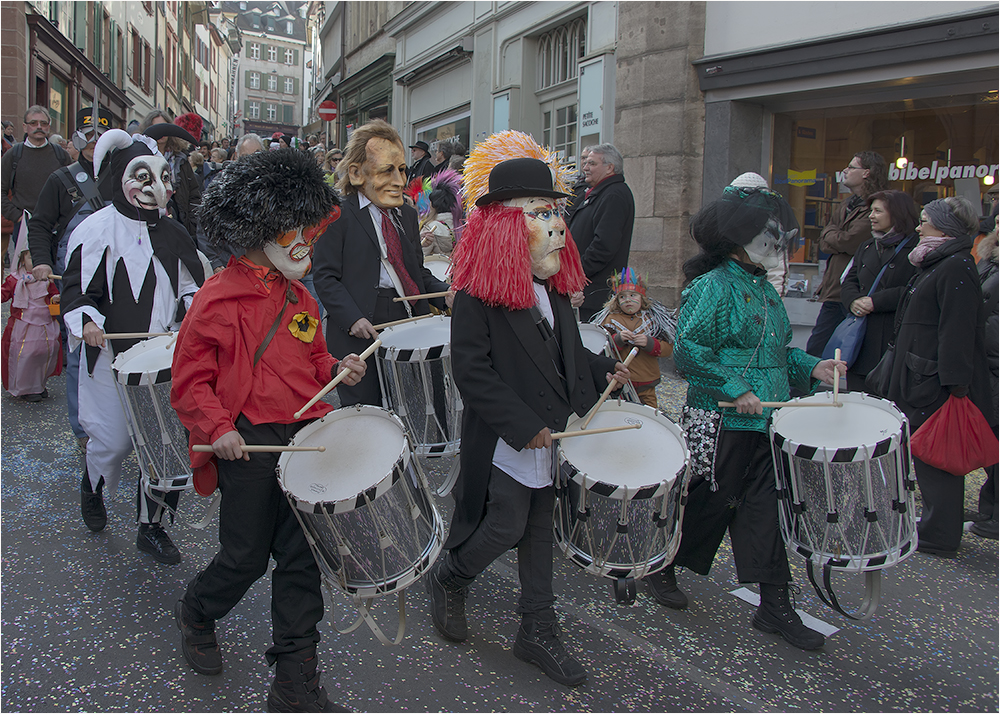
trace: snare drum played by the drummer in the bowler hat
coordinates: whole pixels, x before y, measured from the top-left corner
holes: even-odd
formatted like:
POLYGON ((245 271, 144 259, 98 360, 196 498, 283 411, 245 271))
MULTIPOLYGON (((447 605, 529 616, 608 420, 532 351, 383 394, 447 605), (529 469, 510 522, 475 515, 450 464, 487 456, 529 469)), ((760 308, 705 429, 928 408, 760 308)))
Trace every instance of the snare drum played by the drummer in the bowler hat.
POLYGON ((642 428, 559 441, 556 542, 588 573, 612 580, 662 569, 680 545, 689 461, 680 428, 629 402, 606 402, 588 428, 637 423, 642 428), (663 480, 651 481, 653 474, 663 480))

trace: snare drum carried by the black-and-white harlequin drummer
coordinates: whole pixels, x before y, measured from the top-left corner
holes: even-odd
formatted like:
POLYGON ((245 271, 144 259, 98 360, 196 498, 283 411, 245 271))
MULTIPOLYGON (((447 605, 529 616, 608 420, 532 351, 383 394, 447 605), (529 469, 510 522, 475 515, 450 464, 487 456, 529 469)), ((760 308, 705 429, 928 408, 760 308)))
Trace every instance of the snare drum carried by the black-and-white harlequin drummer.
POLYGON ((174 336, 153 337, 111 363, 143 489, 184 491, 193 485, 187 432, 170 406, 174 336))

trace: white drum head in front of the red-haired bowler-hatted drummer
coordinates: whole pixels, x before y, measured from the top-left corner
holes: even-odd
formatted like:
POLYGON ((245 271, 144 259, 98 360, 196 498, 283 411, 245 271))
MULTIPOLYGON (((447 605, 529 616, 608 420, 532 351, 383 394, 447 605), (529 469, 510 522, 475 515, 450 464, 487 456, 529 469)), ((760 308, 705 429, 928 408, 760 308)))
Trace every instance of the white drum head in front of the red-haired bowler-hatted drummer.
MULTIPOLYGON (((651 498, 665 481, 668 486, 683 473, 688 450, 680 428, 652 407, 629 402, 605 402, 588 429, 625 424, 642 424, 639 429, 593 436, 575 436, 559 441, 562 457, 585 474, 588 487, 602 483, 629 493, 609 498, 633 498, 636 492, 651 498), (662 476, 662 481, 656 477, 662 476)), ((570 422, 567 431, 576 431, 583 419, 570 422)), ((602 492, 608 491, 602 488, 602 492)))

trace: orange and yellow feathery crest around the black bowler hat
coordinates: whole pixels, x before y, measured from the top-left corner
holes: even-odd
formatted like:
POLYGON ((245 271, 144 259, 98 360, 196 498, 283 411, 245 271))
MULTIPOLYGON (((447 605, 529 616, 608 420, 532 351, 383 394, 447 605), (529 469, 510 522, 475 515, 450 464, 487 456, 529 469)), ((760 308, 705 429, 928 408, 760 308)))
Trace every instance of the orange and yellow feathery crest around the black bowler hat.
POLYGON ((465 160, 462 169, 462 193, 465 197, 465 212, 471 213, 482 196, 489 192, 490 171, 501 161, 515 158, 539 159, 552 169, 552 188, 563 193, 572 182, 572 171, 568 166, 559 165, 559 155, 539 146, 530 134, 508 129, 488 136, 465 160))

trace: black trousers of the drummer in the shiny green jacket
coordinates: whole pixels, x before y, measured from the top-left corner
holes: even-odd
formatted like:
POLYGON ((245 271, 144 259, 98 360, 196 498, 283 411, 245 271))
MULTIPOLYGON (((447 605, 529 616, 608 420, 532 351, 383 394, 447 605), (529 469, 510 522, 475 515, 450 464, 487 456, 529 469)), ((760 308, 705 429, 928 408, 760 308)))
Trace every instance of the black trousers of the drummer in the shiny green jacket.
POLYGON ((726 431, 719 436, 715 480, 692 484, 681 525, 675 565, 708 575, 729 530, 741 583, 784 585, 791 581, 778 525, 778 495, 768 435, 726 431))

